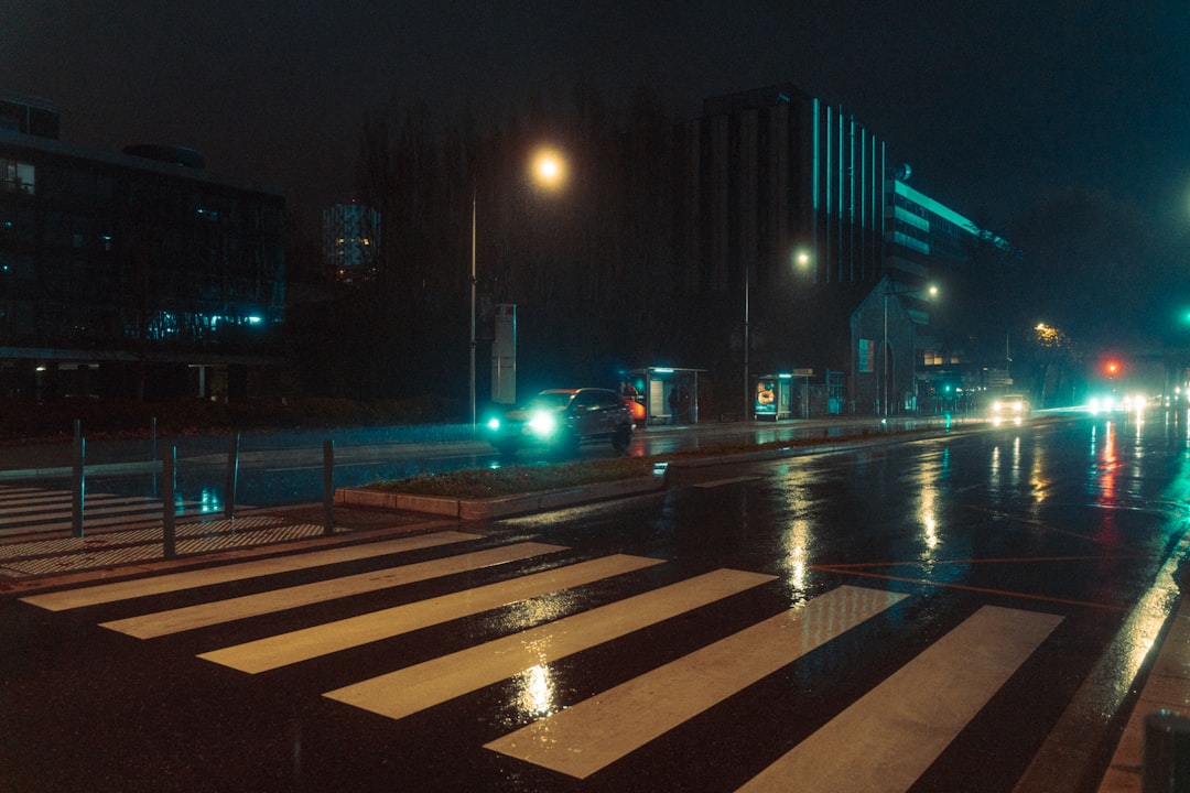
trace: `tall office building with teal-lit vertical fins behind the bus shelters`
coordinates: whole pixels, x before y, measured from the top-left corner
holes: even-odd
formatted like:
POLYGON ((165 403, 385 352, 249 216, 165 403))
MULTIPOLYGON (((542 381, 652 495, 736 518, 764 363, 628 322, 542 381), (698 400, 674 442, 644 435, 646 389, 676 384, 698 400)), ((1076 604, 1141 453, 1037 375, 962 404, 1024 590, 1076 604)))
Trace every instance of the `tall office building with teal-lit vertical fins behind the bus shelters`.
POLYGON ((909 166, 852 113, 790 84, 704 100, 674 146, 683 288, 691 310, 712 320, 690 345, 703 357, 690 360, 709 369, 720 399, 739 394, 726 401, 746 414, 752 379, 794 370, 814 372, 813 413, 884 410, 878 390, 909 388, 908 375, 883 364, 891 371, 878 389, 865 367, 890 358, 890 336, 901 340, 883 331, 885 303, 897 303, 892 326, 909 322, 909 348, 897 353, 912 361, 914 345, 933 344, 919 332, 928 303, 913 298, 962 270, 972 244, 1010 250, 909 187, 909 166))

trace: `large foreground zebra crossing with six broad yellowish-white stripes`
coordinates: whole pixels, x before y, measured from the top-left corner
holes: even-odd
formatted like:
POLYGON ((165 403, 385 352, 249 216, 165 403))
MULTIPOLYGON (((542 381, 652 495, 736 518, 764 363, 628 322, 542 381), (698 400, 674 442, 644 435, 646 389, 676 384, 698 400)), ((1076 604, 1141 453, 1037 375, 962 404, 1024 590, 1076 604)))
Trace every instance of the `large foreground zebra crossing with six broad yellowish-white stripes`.
MULTIPOLYGON (((195 652, 196 657, 246 675, 264 675, 372 643, 382 655, 393 647, 386 640, 525 606, 514 627, 468 635, 462 649, 451 647, 413 662, 394 657, 392 668, 378 674, 371 669, 364 679, 312 692, 322 701, 394 722, 519 676, 533 679, 563 660, 581 662, 583 654, 613 642, 645 641, 641 637, 650 630, 672 621, 706 630, 712 638, 700 647, 635 671, 626 680, 610 679, 577 701, 544 703, 522 712, 524 723, 494 722, 500 734, 474 747, 581 783, 631 763, 634 753, 654 742, 682 741, 684 725, 708 715, 715 718, 722 704, 747 688, 915 598, 843 584, 796 599, 776 613, 770 608, 768 616, 721 635, 715 625, 704 624, 714 619, 709 613, 721 616, 724 610, 743 609, 743 603, 752 608, 757 602, 771 604, 771 598, 751 596, 779 587, 779 579, 733 568, 694 574, 671 568, 671 562, 650 556, 584 558, 552 543, 496 542, 477 534, 440 531, 31 594, 23 600, 49 611, 94 609, 102 628, 144 641, 206 629, 202 638, 212 646, 195 652), (337 567, 368 561, 384 566, 350 574, 339 574, 337 567), (299 572, 318 580, 293 584, 292 574, 299 572), (278 577, 275 585, 274 577, 278 577), (614 586, 616 581, 631 584, 624 589, 614 586), (221 594, 240 584, 253 591, 221 594), (294 629, 284 623, 286 629, 246 642, 219 638, 219 625, 361 594, 399 594, 401 587, 414 584, 446 591, 408 602, 396 597, 395 605, 374 609, 363 605, 369 600, 357 598, 351 603, 359 605, 350 616, 336 611, 321 619, 314 615, 306 621, 314 624, 294 629), (591 586, 603 594, 593 597, 589 605, 574 606, 588 600, 568 593, 591 586), (162 610, 157 596, 167 593, 175 608, 162 610), (553 612, 543 605, 551 598, 563 598, 570 606, 553 612), (140 603, 144 608, 138 608, 140 603), (119 606, 120 616, 107 619, 100 612, 112 605, 119 606)), ((751 619, 740 618, 737 624, 751 619)), ((734 786, 745 791, 909 789, 1061 619, 1000 605, 977 609, 791 749, 756 763, 763 770, 734 786)), ((600 674, 597 668, 590 671, 591 679, 600 674)), ((787 696, 798 694, 789 690, 787 696)), ((729 745, 727 728, 725 743, 729 745)), ((783 728, 776 724, 774 729, 783 728)), ((559 789, 572 789, 559 785, 559 789)))

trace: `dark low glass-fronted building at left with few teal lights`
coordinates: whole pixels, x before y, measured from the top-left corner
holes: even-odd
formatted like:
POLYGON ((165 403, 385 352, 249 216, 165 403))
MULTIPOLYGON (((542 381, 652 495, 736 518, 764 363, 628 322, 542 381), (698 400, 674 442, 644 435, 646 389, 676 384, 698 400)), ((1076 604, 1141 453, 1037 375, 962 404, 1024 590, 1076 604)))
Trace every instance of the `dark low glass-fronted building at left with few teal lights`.
POLYGON ((0 396, 249 396, 284 320, 284 196, 0 118, 0 396))

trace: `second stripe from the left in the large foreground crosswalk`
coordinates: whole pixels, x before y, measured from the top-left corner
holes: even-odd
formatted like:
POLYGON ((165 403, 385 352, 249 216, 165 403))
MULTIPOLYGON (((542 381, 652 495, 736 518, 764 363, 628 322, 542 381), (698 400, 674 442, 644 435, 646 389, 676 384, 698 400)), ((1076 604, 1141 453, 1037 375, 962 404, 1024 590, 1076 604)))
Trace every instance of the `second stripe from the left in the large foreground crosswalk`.
POLYGON ((246 617, 258 617, 264 613, 296 609, 313 603, 326 603, 327 600, 346 598, 353 594, 388 590, 444 575, 469 573, 483 569, 484 567, 506 565, 511 561, 520 561, 558 550, 565 550, 565 547, 541 542, 519 542, 511 546, 487 548, 469 554, 418 562, 415 565, 402 565, 400 567, 376 569, 357 575, 344 575, 343 578, 332 578, 325 581, 313 581, 311 584, 287 586, 268 592, 244 594, 226 600, 199 603, 181 609, 127 617, 126 619, 114 619, 100 623, 100 625, 127 634, 129 636, 136 636, 137 638, 154 638, 155 636, 180 634, 184 630, 194 630, 195 628, 206 628, 207 625, 218 625, 246 617))

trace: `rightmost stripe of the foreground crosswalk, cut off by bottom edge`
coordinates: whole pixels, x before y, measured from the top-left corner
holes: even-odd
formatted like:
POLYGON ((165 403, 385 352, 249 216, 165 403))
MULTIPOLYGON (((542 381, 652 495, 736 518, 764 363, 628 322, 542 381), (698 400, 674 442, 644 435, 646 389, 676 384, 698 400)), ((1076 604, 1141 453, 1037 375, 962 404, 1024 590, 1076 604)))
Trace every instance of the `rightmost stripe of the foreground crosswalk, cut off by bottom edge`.
POLYGON ((1060 622, 983 606, 740 791, 909 789, 1060 622))

